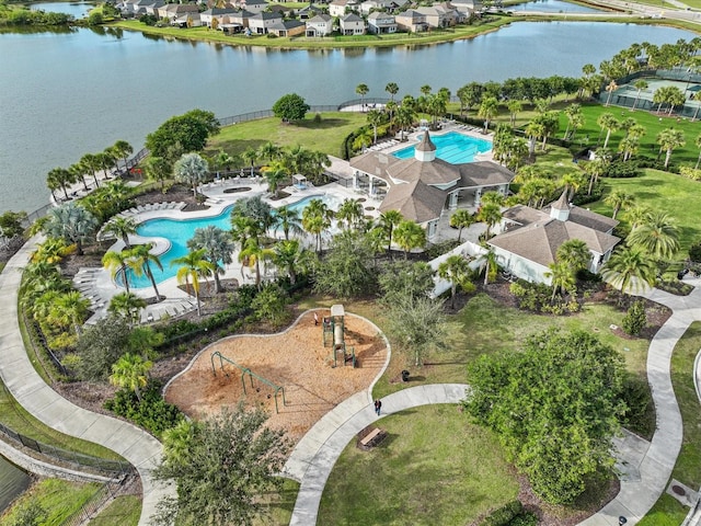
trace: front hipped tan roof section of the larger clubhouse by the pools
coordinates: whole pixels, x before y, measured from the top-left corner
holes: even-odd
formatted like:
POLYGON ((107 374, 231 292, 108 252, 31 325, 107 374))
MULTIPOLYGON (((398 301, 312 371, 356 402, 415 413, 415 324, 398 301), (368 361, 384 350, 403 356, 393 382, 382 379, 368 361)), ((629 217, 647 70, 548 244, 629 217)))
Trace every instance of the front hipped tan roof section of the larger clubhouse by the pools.
POLYGON ((392 186, 379 210, 399 210, 402 216, 416 222, 426 222, 439 217, 445 204, 445 192, 416 180, 392 186))

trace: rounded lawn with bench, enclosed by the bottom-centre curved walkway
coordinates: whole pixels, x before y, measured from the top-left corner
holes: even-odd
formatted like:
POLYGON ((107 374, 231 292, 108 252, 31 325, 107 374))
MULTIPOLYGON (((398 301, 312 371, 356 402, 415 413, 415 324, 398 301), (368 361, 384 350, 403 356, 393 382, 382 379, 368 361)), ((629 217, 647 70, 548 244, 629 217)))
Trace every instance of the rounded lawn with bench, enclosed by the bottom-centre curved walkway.
POLYGON ((470 524, 516 498, 518 483, 493 434, 456 405, 380 420, 375 449, 346 447, 324 488, 317 524, 470 524))

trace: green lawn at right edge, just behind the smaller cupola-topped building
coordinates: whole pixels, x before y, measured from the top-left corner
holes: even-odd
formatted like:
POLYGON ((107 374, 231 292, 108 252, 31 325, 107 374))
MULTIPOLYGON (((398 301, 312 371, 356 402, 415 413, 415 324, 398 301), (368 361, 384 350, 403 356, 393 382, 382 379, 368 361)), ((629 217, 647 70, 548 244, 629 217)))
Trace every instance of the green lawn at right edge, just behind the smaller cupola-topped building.
MULTIPOLYGON (((609 194, 613 190, 623 190, 635 196, 635 203, 646 205, 654 210, 665 211, 673 217, 679 228, 681 250, 678 259, 688 256, 689 247, 701 240, 699 224, 699 203, 701 203, 701 182, 669 172, 645 170, 644 175, 630 179, 606 179, 609 194)), ((612 209, 602 201, 587 205, 594 211, 611 216, 612 209)), ((625 211, 617 219, 625 221, 625 211)))

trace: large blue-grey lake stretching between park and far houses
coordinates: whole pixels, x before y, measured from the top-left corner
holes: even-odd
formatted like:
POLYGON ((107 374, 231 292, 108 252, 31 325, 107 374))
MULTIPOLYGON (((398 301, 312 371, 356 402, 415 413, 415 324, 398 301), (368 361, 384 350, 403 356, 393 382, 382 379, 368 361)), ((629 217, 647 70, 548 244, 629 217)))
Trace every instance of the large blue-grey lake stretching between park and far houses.
POLYGON ((91 31, 0 34, 0 211, 47 203, 46 173, 116 140, 141 148, 149 132, 194 107, 217 116, 269 108, 285 93, 310 104, 455 91, 471 81, 579 77, 633 43, 687 41, 663 26, 521 22, 469 41, 422 47, 268 50, 91 31))

